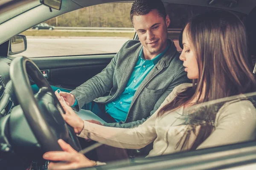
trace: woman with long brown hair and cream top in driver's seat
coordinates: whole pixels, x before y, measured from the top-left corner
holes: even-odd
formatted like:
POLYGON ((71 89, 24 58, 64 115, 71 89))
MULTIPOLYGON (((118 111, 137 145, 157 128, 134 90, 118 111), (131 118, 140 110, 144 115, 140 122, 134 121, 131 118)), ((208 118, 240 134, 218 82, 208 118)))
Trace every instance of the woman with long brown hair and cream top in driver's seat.
MULTIPOLYGON (((193 84, 177 86, 156 113, 139 127, 104 127, 83 121, 62 102, 65 121, 78 136, 114 147, 140 149, 154 142, 148 156, 253 140, 256 109, 243 94, 254 92, 256 82, 247 60, 247 40, 241 20, 227 11, 198 15, 184 29, 183 47, 180 59, 193 84), (234 95, 238 96, 221 101, 234 95), (205 102, 203 107, 197 105, 205 102)), ((97 164, 62 140, 58 142, 64 152, 45 153, 44 159, 67 163, 50 163, 50 168, 97 164)))

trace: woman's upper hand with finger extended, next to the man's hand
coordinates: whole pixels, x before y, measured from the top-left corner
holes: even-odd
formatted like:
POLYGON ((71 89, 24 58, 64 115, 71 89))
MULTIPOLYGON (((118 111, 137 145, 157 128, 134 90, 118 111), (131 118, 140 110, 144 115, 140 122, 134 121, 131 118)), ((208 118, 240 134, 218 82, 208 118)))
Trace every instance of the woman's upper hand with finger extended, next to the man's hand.
POLYGON ((81 133, 84 128, 84 121, 79 116, 77 116, 72 108, 65 105, 63 101, 60 101, 60 103, 62 108, 66 112, 65 114, 62 114, 64 120, 67 122, 67 124, 74 128, 75 133, 81 133))

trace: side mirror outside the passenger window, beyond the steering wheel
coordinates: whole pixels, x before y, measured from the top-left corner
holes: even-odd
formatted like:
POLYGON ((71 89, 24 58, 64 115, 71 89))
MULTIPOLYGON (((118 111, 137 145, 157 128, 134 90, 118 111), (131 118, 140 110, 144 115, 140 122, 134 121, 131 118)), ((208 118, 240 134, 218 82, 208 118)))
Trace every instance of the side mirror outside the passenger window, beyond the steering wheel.
POLYGON ((18 34, 15 37, 12 37, 10 41, 9 56, 26 51, 27 42, 25 35, 18 34))

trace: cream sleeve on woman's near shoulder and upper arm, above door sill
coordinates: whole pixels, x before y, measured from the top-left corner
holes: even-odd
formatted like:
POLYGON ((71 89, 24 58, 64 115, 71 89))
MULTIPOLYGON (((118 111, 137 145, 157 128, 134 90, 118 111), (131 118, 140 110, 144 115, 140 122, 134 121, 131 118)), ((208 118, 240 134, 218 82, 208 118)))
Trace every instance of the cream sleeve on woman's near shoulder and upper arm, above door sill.
POLYGON ((197 148, 215 147, 254 140, 256 109, 248 100, 223 106, 216 115, 215 130, 197 148))

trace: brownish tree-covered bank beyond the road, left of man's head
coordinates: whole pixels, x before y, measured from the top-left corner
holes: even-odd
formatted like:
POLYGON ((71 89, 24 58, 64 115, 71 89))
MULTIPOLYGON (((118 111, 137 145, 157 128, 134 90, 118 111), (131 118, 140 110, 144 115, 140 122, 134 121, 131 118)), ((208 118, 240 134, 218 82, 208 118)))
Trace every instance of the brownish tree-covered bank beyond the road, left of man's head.
POLYGON ((81 8, 46 21, 63 27, 133 27, 130 20, 132 3, 106 3, 81 8))

